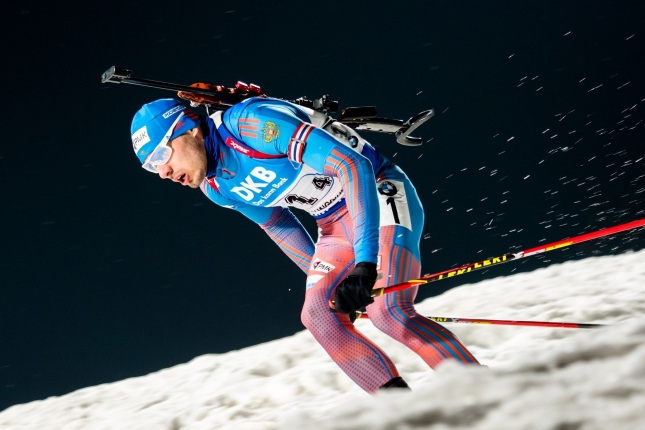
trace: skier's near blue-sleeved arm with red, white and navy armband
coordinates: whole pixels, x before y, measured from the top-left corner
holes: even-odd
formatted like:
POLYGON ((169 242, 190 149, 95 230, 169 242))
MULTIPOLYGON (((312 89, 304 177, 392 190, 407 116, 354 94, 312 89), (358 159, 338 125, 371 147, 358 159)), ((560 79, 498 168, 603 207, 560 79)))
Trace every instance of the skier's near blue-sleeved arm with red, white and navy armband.
POLYGON ((339 178, 354 224, 356 262, 376 263, 380 210, 374 171, 369 160, 326 131, 308 124, 303 113, 295 107, 272 105, 271 101, 255 103, 244 109, 240 117, 259 119, 260 129, 267 122, 279 127, 280 132, 275 139, 245 137, 244 141, 252 147, 287 154, 295 162, 339 178), (304 146, 294 143, 294 139, 305 142, 304 146))

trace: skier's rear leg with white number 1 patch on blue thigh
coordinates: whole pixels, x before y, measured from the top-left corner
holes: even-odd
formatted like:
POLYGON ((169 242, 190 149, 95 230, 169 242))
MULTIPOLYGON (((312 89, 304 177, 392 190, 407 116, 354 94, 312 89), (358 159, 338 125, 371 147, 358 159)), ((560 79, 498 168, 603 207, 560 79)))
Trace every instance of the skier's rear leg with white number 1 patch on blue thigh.
MULTIPOLYGON (((375 288, 381 288, 421 275, 419 242, 423 208, 414 187, 398 168, 386 170, 377 181, 381 201, 379 273, 383 275, 375 288)), ((450 330, 416 312, 417 290, 418 287, 413 287, 377 297, 367 307, 372 323, 433 368, 447 359, 478 364, 450 330)))

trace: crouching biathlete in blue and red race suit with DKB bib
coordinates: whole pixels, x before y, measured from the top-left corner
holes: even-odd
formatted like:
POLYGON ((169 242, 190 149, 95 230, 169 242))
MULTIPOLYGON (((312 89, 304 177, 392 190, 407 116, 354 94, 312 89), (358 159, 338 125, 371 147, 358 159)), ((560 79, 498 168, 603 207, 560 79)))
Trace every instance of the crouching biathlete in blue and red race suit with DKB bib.
POLYGON ((374 286, 421 275, 424 214, 405 173, 353 129, 277 99, 250 98, 210 116, 161 99, 136 113, 131 136, 143 168, 241 212, 307 274, 302 323, 363 390, 409 388, 351 321, 363 307, 430 367, 478 364, 455 335, 415 311, 418 287, 371 297, 374 286), (316 219, 316 243, 290 207, 316 219))

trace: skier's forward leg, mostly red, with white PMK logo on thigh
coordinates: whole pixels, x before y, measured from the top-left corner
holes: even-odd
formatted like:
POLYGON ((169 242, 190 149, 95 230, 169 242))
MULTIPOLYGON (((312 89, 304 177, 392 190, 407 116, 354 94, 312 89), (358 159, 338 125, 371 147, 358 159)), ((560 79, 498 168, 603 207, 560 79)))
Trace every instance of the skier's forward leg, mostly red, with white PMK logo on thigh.
POLYGON ((343 208, 319 222, 320 238, 307 277, 302 323, 332 360, 368 393, 399 376, 394 363, 361 334, 347 315, 332 313, 334 287, 354 267, 353 227, 343 208))

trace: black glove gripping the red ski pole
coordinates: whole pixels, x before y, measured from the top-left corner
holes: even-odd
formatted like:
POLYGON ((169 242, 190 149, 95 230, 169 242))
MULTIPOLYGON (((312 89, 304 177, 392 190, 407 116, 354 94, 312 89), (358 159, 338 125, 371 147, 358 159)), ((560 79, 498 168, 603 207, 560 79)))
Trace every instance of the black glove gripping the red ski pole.
POLYGON ((374 303, 372 288, 376 282, 376 264, 358 263, 349 276, 336 287, 334 298, 336 311, 351 314, 374 303))

